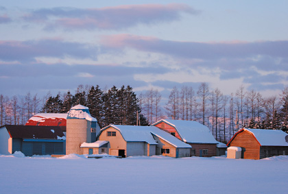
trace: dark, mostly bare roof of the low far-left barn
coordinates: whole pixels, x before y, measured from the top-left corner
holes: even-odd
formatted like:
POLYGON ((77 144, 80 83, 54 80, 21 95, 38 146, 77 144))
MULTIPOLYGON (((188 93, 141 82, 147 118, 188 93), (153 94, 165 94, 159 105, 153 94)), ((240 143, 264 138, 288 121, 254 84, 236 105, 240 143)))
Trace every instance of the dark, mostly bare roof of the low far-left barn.
POLYGON ((64 139, 58 126, 5 125, 11 138, 64 139))

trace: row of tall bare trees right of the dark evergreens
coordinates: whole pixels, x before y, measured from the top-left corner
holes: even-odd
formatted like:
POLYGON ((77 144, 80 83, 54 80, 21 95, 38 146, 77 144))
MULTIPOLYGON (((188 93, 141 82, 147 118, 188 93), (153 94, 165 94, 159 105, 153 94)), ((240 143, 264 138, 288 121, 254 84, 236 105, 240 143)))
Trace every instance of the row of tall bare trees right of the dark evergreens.
POLYGON ((150 124, 165 118, 198 121, 223 142, 241 128, 288 128, 288 87, 280 96, 263 97, 256 90, 245 90, 244 86, 224 95, 219 88, 202 83, 197 90, 188 86, 172 88, 164 105, 160 93, 154 89, 141 93, 139 101, 150 124))

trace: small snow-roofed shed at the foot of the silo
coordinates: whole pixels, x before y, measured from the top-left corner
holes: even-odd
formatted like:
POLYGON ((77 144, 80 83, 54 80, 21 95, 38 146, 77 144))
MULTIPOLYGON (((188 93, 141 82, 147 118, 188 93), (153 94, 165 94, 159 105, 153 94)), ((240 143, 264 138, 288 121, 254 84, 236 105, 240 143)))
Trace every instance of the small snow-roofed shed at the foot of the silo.
POLYGON ((82 143, 83 154, 108 154, 108 141, 95 141, 93 143, 82 143))

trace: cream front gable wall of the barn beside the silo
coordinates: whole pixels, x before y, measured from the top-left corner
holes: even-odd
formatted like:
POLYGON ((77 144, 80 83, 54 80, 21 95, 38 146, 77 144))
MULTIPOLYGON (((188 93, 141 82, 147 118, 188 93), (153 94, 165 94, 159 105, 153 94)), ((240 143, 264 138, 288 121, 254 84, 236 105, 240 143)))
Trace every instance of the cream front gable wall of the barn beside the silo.
POLYGON ((125 149, 125 152, 127 150, 126 141, 124 140, 119 130, 116 130, 115 128, 110 127, 104 130, 104 132, 101 132, 101 134, 98 137, 98 140, 109 141, 110 143, 109 154, 111 156, 118 156, 119 149, 125 149), (116 136, 107 136, 107 132, 116 132, 116 136))

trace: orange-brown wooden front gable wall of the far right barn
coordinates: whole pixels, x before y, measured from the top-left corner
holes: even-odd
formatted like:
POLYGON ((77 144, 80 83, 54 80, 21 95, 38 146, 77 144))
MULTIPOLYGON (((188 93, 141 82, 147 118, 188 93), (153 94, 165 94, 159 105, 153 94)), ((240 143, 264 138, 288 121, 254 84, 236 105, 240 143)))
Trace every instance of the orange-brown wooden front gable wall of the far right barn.
POLYGON ((230 141, 230 146, 242 147, 245 149, 243 158, 260 159, 260 145, 253 134, 247 131, 239 132, 230 141))

